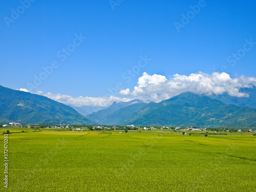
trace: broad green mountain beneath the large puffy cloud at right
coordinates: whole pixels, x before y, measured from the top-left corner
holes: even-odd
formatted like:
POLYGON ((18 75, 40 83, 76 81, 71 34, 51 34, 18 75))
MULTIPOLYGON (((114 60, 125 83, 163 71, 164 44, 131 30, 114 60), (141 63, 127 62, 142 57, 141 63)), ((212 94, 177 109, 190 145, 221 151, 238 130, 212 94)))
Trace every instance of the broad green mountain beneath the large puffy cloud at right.
POLYGON ((131 105, 104 118, 104 124, 255 127, 256 110, 186 92, 159 103, 131 105))

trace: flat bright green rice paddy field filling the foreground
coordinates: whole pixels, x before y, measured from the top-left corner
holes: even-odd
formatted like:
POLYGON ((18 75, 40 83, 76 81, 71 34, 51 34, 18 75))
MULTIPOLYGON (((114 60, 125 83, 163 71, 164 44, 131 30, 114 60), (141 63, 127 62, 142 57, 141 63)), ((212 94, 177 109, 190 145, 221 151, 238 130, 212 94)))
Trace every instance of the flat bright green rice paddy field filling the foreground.
POLYGON ((0 138, 0 191, 256 191, 252 134, 12 133, 8 188, 0 138))

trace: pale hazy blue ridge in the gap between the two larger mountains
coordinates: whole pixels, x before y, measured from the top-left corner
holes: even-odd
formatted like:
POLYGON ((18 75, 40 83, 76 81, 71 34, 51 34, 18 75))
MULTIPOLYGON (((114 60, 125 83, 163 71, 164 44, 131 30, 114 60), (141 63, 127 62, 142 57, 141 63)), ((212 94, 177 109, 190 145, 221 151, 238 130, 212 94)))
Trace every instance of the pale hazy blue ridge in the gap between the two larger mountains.
MULTIPOLYGON (((87 115, 86 118, 91 119, 92 121, 95 121, 99 124, 104 124, 104 122, 108 122, 105 120, 105 118, 111 114, 113 114, 115 111, 124 108, 126 106, 130 106, 136 103, 142 103, 139 99, 134 99, 129 102, 113 102, 112 105, 109 106, 109 108, 100 110, 98 112, 94 112, 90 115, 87 115), (104 122, 103 122, 104 121, 104 122)), ((108 124, 108 123, 106 123, 108 124)))

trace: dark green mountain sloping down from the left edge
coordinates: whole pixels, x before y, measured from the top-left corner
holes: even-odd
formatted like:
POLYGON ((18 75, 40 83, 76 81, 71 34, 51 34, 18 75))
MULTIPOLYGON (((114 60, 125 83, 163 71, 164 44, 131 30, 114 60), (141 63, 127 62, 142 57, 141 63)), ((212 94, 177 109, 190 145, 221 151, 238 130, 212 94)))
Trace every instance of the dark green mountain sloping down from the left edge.
POLYGON ((70 106, 0 86, 0 122, 95 124, 70 106))

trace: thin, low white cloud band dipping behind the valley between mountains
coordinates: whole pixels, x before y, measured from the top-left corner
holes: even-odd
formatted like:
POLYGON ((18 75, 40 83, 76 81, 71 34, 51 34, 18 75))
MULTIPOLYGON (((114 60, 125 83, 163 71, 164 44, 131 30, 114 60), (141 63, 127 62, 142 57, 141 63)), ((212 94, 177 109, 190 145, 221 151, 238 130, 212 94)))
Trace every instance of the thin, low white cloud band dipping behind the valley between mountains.
POLYGON ((43 93, 40 91, 37 91, 38 95, 42 95, 45 97, 48 97, 52 100, 61 102, 63 104, 67 105, 73 105, 73 106, 109 106, 111 105, 114 101, 116 102, 127 102, 131 101, 132 99, 129 98, 119 98, 119 97, 72 97, 69 95, 61 95, 61 94, 52 94, 52 93, 43 93))

